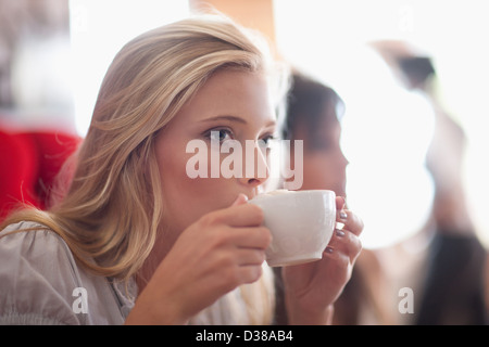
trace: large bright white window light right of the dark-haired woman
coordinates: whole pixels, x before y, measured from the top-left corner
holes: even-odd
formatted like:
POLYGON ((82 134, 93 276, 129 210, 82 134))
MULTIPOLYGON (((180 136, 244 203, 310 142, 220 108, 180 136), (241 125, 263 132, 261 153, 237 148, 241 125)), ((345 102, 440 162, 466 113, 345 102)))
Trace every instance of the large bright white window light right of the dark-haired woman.
POLYGON ((426 101, 402 90, 366 48, 379 39, 406 41, 434 57, 443 106, 468 137, 464 178, 469 210, 489 247, 485 5, 484 0, 274 1, 280 54, 346 101, 348 202, 365 221, 365 247, 391 245, 419 231, 434 195, 424 167, 432 114, 426 101))

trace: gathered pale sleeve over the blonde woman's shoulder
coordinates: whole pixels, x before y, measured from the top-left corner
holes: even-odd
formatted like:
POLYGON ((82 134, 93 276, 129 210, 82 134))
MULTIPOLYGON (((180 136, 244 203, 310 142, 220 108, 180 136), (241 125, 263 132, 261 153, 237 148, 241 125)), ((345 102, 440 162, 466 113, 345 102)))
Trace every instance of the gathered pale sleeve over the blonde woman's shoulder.
POLYGON ((8 226, 0 232, 0 321, 82 323, 66 300, 82 285, 77 267, 55 232, 29 221, 8 226))

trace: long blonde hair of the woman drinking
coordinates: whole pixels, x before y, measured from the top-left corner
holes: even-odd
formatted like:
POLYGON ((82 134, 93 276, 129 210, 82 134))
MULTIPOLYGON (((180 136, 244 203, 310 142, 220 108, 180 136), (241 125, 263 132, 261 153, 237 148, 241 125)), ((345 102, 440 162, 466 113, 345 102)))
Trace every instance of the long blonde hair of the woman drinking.
POLYGON ((223 68, 278 80, 255 36, 221 15, 193 16, 129 41, 106 72, 61 201, 48 211, 14 214, 3 228, 39 222, 60 234, 87 269, 128 280, 150 254, 164 209, 155 136, 223 68))

